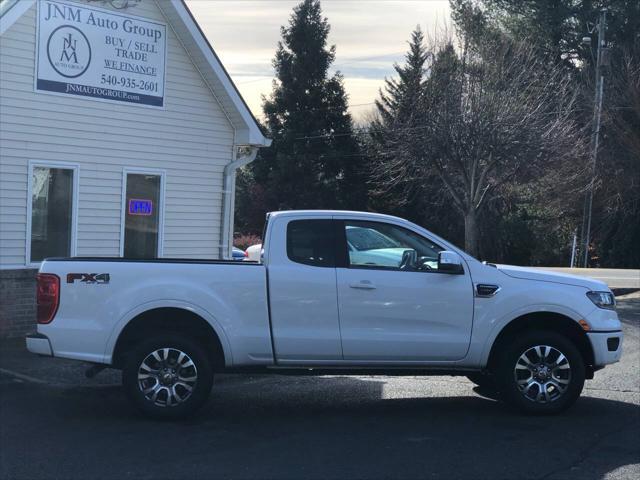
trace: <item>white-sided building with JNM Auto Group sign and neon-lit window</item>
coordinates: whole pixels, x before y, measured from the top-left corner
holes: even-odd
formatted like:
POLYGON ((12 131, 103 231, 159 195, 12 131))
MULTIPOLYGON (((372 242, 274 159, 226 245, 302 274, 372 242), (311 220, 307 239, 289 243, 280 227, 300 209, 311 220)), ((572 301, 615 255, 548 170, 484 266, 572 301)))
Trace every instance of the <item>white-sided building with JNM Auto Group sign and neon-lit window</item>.
POLYGON ((0 15, 0 335, 43 258, 228 255, 235 170, 270 141, 184 2, 0 15))

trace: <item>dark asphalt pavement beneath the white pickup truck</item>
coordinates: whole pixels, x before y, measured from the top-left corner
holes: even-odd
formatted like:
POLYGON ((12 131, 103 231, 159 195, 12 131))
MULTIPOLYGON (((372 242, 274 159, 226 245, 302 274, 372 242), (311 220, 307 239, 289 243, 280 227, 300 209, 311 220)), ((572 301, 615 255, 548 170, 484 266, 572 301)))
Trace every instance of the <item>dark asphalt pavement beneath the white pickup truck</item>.
POLYGON ((221 376, 184 422, 139 417, 115 373, 5 348, 3 479, 640 478, 640 294, 622 361, 569 412, 522 416, 454 377, 221 376), (56 364, 56 362, 58 362, 56 364), (55 367, 51 367, 55 364, 55 367), (55 372, 52 368, 55 368, 55 372), (9 372, 18 371, 19 377, 9 372))

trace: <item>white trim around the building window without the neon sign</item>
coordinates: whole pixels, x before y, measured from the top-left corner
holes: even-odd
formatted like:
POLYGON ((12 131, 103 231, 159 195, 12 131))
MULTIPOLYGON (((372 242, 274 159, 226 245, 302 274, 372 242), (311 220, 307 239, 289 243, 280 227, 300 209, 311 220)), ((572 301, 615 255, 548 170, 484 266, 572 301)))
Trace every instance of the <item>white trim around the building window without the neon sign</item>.
POLYGON ((49 160, 29 160, 27 172, 27 235, 25 239, 25 266, 39 268, 42 261, 31 261, 31 231, 33 224, 33 170, 36 167, 59 168, 73 172, 73 186, 71 189, 71 240, 69 256, 75 257, 78 251, 78 196, 80 185, 80 165, 77 163, 57 162, 49 160))

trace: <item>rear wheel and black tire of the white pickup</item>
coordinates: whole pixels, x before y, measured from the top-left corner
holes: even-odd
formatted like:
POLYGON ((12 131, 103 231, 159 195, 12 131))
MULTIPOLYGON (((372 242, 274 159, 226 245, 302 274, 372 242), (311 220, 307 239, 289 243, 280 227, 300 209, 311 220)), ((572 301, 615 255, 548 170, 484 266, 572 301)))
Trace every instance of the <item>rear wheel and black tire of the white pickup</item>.
POLYGON ((157 419, 179 419, 193 415, 207 401, 213 385, 213 369, 198 342, 178 333, 166 332, 135 344, 127 352, 122 383, 129 400, 145 415, 157 419), (154 352, 159 360, 153 356, 154 352), (147 375, 151 371, 166 373, 147 375), (148 378, 140 379, 139 374, 148 378), (194 375, 195 380, 192 380, 194 375), (143 388, 152 388, 152 385, 154 390, 145 395, 143 388), (155 401, 150 398, 154 393, 155 401))

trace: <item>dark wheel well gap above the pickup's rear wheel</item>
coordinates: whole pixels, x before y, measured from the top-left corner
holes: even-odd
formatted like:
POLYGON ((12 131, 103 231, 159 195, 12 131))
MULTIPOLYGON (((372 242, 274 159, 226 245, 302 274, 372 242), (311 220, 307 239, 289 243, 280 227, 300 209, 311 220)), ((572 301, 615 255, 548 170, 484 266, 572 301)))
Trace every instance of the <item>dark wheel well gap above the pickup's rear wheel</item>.
POLYGON ((231 364, 229 348, 210 321, 192 309, 160 306, 134 314, 118 333, 111 365, 122 367, 122 362, 129 347, 136 341, 152 333, 175 331, 191 336, 205 348, 214 369, 220 370, 231 364))

